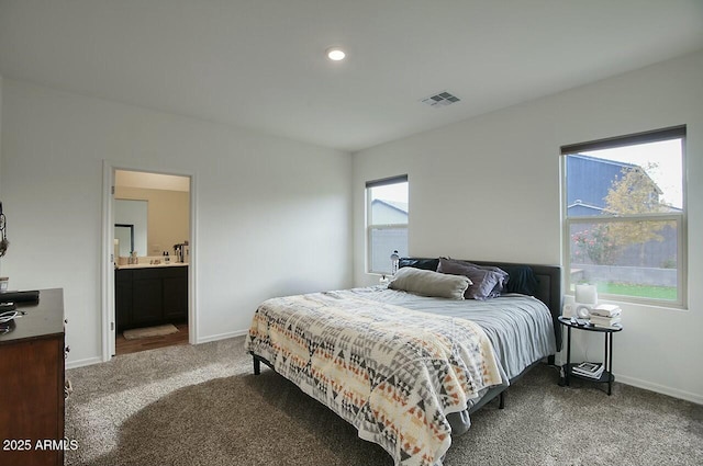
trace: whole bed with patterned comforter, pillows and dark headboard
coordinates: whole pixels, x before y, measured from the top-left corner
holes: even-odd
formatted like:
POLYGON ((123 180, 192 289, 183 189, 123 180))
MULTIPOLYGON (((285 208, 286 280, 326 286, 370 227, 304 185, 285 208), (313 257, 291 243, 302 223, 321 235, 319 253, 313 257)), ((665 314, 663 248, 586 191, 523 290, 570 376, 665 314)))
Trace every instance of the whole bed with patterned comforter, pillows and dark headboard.
POLYGON ((561 271, 444 258, 400 265, 389 285, 266 300, 245 348, 255 374, 265 363, 397 465, 438 466, 473 411, 496 398, 503 408, 512 383, 554 364, 561 271), (501 286, 483 280, 475 296, 475 268, 505 274, 501 286))

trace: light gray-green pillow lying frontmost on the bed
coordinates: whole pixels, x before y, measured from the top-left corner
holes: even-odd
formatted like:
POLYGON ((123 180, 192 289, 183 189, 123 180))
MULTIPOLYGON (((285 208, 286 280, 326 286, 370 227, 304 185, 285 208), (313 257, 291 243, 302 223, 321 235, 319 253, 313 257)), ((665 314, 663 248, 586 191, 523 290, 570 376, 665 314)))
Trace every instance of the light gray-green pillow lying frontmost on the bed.
POLYGON ((446 275, 429 270, 403 268, 388 284, 391 289, 401 289, 422 296, 464 299, 471 281, 464 275, 446 275))

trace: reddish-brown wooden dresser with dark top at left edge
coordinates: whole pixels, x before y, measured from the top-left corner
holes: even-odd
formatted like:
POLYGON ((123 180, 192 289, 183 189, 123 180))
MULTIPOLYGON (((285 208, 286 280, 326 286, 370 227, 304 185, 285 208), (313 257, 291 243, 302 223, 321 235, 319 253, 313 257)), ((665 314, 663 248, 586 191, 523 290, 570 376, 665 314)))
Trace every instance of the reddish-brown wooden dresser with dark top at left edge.
POLYGON ((38 303, 0 334, 0 465, 64 464, 64 292, 38 303))

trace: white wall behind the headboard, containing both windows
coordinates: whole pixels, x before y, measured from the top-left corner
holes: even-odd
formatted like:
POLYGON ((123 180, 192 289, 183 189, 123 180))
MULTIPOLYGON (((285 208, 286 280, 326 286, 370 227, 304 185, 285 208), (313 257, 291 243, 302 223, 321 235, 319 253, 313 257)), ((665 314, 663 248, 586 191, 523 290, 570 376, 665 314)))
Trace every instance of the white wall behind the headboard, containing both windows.
MULTIPOLYGON (((354 155, 355 283, 364 185, 408 173, 412 255, 559 264, 562 145, 688 125, 689 309, 623 305, 618 380, 703 404, 703 52, 354 155)), ((578 353, 602 354, 580 333, 578 353)))

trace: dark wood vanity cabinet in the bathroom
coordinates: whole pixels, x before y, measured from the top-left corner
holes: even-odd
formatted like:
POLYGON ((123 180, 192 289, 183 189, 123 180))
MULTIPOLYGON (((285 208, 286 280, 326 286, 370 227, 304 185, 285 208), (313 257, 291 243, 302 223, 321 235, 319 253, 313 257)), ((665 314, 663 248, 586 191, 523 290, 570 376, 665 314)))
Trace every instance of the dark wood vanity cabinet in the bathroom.
POLYGON ((115 270, 118 331, 188 320, 188 266, 115 270))

